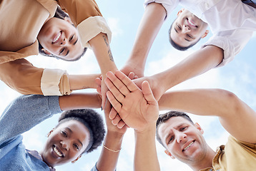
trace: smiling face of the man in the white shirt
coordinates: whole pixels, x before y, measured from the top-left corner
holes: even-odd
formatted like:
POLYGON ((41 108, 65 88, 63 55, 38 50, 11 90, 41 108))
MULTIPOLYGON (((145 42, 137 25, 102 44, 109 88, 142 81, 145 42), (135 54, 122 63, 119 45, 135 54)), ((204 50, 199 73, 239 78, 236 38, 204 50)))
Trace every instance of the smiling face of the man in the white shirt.
POLYGON ((172 40, 181 47, 197 43, 200 38, 207 36, 207 23, 197 18, 187 9, 179 11, 170 31, 172 40))

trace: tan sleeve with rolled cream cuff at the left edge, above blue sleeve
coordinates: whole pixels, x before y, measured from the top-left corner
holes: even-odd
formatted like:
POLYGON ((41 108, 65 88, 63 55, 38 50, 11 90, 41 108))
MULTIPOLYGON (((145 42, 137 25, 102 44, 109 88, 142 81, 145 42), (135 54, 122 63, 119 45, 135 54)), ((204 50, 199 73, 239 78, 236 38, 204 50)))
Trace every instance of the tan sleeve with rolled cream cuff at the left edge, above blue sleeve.
POLYGON ((22 94, 67 95, 71 93, 66 71, 36 68, 24 58, 2 63, 0 79, 22 94))

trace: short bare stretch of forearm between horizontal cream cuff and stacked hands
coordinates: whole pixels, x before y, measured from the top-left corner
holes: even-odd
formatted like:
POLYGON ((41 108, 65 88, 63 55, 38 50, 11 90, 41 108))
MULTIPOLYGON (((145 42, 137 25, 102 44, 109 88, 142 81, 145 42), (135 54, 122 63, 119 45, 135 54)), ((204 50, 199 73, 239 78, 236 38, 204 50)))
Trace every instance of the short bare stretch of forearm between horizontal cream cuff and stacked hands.
POLYGON ((70 90, 81 90, 85 88, 96 88, 95 79, 100 74, 68 75, 70 90))

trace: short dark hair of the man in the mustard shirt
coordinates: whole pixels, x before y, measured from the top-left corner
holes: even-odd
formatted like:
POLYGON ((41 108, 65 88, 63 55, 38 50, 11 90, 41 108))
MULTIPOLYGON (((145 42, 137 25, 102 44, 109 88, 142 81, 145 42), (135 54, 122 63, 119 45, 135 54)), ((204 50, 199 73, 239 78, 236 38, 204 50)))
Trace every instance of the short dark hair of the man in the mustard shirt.
MULTIPOLYGON (((164 114, 160 114, 158 119, 157 119, 157 124, 156 124, 156 127, 157 127, 157 131, 156 131, 156 135, 157 135, 157 140, 160 144, 162 144, 164 146, 164 143, 162 142, 160 136, 159 136, 159 133, 158 133, 158 130, 159 130, 159 126, 162 124, 162 123, 165 123, 167 120, 169 120, 169 118, 172 118, 172 117, 182 117, 186 120, 189 120, 189 122, 191 122, 192 124, 193 121, 191 120, 191 118, 189 118, 189 115, 187 115, 186 113, 183 113, 183 112, 179 112, 179 111, 169 111, 167 113, 164 113, 164 114)), ((165 147, 165 146, 164 146, 165 147)))

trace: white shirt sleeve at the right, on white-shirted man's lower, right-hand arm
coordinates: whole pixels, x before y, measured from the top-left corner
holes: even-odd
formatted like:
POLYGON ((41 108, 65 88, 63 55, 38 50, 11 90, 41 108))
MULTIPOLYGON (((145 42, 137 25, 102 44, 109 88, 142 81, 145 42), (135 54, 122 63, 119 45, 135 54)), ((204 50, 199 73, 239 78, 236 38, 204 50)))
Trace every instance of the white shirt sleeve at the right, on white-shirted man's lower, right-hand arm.
POLYGON ((246 29, 221 31, 212 36, 202 48, 210 45, 222 48, 224 51, 224 58, 222 63, 217 67, 225 66, 227 63, 230 63, 240 51, 242 51, 242 48, 244 48, 248 41, 250 41, 252 33, 252 31, 246 29))

